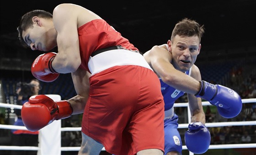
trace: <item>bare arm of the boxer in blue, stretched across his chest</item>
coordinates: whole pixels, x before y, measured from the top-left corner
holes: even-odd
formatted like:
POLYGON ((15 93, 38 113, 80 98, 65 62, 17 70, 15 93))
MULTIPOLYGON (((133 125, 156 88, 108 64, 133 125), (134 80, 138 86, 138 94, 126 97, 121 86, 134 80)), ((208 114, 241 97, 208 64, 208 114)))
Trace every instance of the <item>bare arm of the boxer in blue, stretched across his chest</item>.
POLYGON ((144 58, 166 84, 189 94, 196 94, 200 89, 200 82, 176 70, 171 64, 171 53, 165 45, 154 46, 144 54, 144 58))

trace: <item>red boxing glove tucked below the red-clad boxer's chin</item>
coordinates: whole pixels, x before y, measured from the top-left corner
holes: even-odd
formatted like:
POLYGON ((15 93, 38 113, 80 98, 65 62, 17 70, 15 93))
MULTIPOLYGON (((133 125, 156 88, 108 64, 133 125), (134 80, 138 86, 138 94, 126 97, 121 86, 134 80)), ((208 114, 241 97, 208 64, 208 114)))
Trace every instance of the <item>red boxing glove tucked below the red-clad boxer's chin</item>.
POLYGON ((31 66, 32 75, 43 82, 56 80, 59 77, 59 73, 52 67, 52 62, 56 55, 54 52, 39 55, 31 66))

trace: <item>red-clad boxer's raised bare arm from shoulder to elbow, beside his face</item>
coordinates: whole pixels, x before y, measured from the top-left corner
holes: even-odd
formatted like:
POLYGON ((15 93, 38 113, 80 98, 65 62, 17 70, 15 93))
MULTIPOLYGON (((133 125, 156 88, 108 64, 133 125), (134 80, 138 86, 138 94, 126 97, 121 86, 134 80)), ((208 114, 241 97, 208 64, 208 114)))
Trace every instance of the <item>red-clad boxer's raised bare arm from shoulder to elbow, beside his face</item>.
POLYGON ((81 64, 76 7, 76 5, 58 5, 53 10, 53 24, 58 34, 58 54, 52 65, 58 73, 75 72, 81 64))

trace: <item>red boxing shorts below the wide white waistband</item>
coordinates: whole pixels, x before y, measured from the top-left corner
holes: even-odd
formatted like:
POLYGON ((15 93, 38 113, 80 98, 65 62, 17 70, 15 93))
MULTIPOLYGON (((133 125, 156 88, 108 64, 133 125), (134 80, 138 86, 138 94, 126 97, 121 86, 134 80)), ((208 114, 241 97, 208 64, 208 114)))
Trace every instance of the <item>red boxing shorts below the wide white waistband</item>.
POLYGON ((157 75, 137 65, 114 66, 90 77, 82 132, 115 155, 164 151, 164 101, 157 75))

